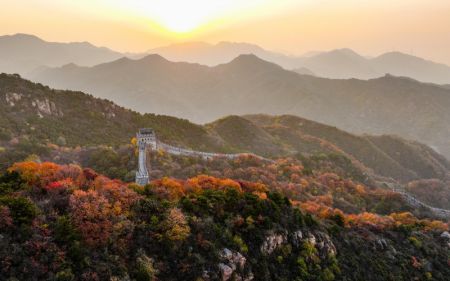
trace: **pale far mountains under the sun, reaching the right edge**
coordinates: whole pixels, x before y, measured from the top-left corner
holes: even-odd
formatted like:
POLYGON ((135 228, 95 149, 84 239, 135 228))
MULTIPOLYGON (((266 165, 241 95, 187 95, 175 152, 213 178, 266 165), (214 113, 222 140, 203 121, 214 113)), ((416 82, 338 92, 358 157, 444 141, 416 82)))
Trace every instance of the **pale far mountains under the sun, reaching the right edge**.
POLYGON ((229 62, 241 54, 254 54, 283 68, 299 69, 301 74, 314 74, 325 78, 372 79, 389 73, 422 82, 450 83, 449 66, 400 52, 367 58, 351 49, 336 49, 329 52, 312 52, 304 56, 288 56, 253 44, 220 42, 213 45, 193 42, 151 49, 148 53, 159 54, 171 61, 209 66, 229 62))

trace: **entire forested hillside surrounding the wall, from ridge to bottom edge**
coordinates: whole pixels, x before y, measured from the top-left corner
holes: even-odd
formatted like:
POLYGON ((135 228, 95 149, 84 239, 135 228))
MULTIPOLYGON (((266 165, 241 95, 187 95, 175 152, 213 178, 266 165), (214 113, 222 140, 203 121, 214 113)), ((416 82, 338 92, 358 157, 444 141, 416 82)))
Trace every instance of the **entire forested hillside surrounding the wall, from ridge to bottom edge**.
POLYGON ((17 75, 0 75, 0 104, 0 279, 406 281, 450 274, 447 218, 413 208, 383 183, 409 182, 408 192, 448 208, 440 199, 448 194, 448 162, 422 144, 289 115, 200 126, 17 75), (141 127, 181 147, 274 161, 152 151, 152 181, 138 186, 132 137, 141 127), (376 266, 363 266, 369 262, 376 266))

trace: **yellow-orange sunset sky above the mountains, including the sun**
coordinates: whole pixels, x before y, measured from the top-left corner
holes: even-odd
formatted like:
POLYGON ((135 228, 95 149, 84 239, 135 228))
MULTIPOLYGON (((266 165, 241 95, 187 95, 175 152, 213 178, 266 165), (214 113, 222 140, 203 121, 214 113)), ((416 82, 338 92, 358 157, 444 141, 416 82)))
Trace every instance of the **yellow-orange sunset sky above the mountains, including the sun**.
POLYGON ((293 55, 402 51, 450 65, 449 0, 1 0, 0 35, 15 33, 122 52, 233 41, 293 55))

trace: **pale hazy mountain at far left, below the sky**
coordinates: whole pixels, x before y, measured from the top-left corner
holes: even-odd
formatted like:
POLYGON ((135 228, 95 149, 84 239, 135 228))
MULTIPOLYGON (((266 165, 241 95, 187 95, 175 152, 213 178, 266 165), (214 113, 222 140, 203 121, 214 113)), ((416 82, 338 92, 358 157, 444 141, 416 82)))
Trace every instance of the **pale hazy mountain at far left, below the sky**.
POLYGON ((27 34, 0 36, 0 72, 24 76, 42 66, 55 67, 68 63, 93 66, 122 56, 88 42, 47 42, 27 34))

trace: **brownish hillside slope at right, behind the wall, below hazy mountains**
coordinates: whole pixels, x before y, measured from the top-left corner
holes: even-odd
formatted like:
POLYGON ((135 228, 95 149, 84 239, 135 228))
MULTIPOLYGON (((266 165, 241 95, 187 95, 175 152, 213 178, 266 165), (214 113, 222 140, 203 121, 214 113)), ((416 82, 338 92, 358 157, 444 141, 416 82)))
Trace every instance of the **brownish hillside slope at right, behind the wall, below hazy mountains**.
POLYGON ((401 180, 446 178, 450 169, 450 163, 430 148, 393 136, 356 136, 288 115, 245 118, 270 132, 288 151, 343 154, 382 176, 401 180))

